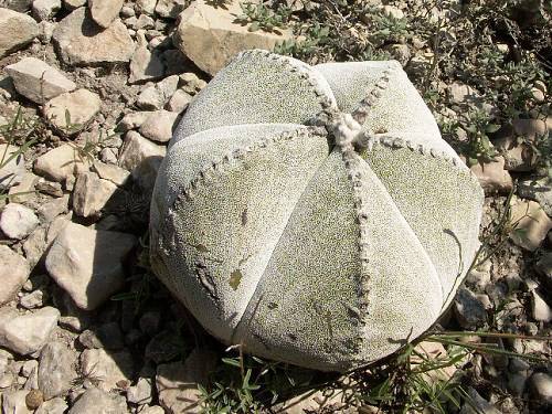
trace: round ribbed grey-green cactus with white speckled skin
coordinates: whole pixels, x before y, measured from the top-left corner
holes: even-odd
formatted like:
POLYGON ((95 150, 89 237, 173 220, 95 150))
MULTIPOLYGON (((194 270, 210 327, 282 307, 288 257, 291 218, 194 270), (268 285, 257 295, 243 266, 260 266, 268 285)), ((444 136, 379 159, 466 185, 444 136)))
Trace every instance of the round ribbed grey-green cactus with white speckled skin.
POLYGON ((172 138, 151 263, 223 342, 346 371, 435 322, 479 245, 481 205, 396 62, 247 51, 172 138))

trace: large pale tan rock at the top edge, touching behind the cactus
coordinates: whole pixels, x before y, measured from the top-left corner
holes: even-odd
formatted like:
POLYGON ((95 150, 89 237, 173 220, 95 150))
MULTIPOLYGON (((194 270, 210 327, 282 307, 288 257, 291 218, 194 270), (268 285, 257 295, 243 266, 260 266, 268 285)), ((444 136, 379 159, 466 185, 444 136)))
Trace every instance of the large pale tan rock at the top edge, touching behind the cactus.
POLYGON ((232 0, 227 8, 214 8, 204 0, 195 0, 180 14, 173 42, 202 71, 214 75, 241 51, 272 51, 277 43, 293 38, 287 29, 279 34, 251 32, 247 25, 235 22, 235 15, 242 13, 237 0, 232 0))

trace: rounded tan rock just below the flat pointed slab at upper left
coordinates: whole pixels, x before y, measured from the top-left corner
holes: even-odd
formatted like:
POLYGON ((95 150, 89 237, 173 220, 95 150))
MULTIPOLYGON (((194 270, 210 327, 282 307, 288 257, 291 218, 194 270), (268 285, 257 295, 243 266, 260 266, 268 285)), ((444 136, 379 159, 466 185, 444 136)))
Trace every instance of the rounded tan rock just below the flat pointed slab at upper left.
POLYGON ((83 129, 100 108, 97 94, 77 89, 50 99, 44 106, 44 116, 57 130, 74 134, 83 129))

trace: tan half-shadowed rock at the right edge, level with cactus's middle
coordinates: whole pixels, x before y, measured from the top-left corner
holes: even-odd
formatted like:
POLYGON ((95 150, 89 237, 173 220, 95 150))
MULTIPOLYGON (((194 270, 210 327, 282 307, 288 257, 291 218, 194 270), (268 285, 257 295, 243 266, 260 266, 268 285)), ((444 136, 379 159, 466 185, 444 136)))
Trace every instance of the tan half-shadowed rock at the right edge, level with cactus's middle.
POLYGON ((510 238, 518 246, 534 252, 552 229, 552 220, 539 203, 526 200, 512 200, 510 224, 514 229, 510 238))

